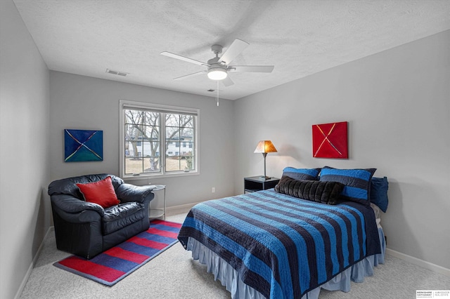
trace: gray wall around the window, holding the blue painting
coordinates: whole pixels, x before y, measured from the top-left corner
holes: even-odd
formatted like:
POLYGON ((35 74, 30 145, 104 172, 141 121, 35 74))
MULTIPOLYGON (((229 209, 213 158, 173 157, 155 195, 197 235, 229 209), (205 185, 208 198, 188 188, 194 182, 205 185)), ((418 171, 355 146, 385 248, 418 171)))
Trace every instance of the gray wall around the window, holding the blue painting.
MULTIPOLYGON (((63 72, 50 73, 50 179, 119 174, 119 100, 200 109, 200 175, 150 179, 167 185, 167 206, 233 194, 233 102, 63 72), (103 130, 103 161, 64 162, 63 130, 103 130), (216 192, 212 193, 212 187, 216 192)), ((148 180, 132 181, 136 185, 148 180)))

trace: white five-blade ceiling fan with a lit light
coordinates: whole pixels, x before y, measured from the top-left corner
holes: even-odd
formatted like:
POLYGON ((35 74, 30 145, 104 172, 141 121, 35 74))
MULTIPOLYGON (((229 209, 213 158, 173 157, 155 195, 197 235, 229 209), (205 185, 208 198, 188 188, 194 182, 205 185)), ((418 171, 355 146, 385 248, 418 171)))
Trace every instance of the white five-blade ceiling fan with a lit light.
POLYGON ((228 72, 270 73, 274 69, 274 65, 229 65, 234 58, 236 58, 242 51, 245 50, 245 48, 247 48, 247 46, 249 46, 247 42, 241 41, 240 39, 235 39, 233 41, 233 44, 231 44, 231 46, 229 46, 229 48, 225 51, 224 55, 221 55, 221 57, 219 57, 219 54, 222 53, 223 47, 221 45, 212 45, 211 51, 216 55, 216 57, 208 60, 207 63, 167 51, 161 52, 161 55, 207 67, 207 69, 203 71, 177 77, 174 78, 174 80, 186 79, 188 77, 197 76, 199 74, 207 74, 208 78, 212 80, 222 80, 225 86, 231 86, 234 83, 228 76, 228 72))

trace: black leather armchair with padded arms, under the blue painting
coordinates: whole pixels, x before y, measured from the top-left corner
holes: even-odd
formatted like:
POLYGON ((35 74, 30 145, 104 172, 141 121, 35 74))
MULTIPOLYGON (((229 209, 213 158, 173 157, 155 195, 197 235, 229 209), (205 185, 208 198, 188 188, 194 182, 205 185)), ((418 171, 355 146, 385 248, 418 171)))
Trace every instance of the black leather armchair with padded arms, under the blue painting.
POLYGON ((55 180, 49 185, 56 247, 90 259, 139 232, 148 230, 150 186, 135 186, 106 173, 55 180), (77 183, 110 176, 120 204, 103 208, 84 201, 77 183))

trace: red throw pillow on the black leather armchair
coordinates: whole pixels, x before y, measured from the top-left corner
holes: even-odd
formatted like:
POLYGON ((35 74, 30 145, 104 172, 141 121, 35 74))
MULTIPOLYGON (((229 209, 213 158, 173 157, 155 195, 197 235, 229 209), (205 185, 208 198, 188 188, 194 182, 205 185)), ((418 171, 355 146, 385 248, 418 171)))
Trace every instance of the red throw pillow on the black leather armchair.
POLYGON ((77 184, 79 191, 82 192, 84 199, 94 204, 99 204, 103 208, 109 208, 110 206, 115 206, 119 204, 120 201, 117 199, 115 194, 113 182, 111 182, 111 177, 108 176, 103 180, 98 182, 88 182, 86 184, 77 184))

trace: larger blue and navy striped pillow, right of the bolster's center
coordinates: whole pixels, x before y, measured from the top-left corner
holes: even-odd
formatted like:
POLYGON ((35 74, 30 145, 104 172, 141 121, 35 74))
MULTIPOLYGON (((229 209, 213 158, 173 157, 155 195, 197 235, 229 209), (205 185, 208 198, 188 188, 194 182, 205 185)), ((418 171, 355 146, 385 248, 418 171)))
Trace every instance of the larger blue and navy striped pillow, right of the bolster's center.
POLYGON ((371 179, 375 171, 376 168, 336 169, 325 166, 321 170, 320 180, 341 182, 345 185, 341 192, 342 200, 370 206, 371 179))

